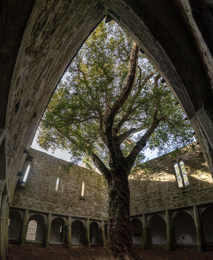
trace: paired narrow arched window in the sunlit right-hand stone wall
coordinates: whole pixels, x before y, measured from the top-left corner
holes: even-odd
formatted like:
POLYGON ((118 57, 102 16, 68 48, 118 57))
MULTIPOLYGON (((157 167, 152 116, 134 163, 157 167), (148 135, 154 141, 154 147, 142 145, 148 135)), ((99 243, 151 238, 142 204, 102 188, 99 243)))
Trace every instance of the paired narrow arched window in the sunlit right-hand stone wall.
POLYGON ((186 174, 186 169, 183 163, 183 160, 179 160, 178 162, 174 162, 174 169, 176 175, 176 181, 178 187, 183 187, 189 185, 189 180, 186 174))

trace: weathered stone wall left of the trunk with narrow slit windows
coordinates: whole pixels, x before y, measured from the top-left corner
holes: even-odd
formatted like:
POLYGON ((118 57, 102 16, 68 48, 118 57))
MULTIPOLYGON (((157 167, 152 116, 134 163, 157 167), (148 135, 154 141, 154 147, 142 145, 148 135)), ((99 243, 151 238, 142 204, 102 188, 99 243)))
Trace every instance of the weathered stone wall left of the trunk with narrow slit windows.
POLYGON ((26 187, 16 188, 12 206, 107 219, 108 191, 102 175, 77 165, 68 172, 60 166, 60 163, 67 165, 68 162, 35 149, 30 148, 29 155, 33 159, 26 160, 23 167, 25 172, 28 164, 31 164, 26 187), (58 177, 60 180, 56 191, 58 177), (81 196, 83 181, 84 197, 81 196))

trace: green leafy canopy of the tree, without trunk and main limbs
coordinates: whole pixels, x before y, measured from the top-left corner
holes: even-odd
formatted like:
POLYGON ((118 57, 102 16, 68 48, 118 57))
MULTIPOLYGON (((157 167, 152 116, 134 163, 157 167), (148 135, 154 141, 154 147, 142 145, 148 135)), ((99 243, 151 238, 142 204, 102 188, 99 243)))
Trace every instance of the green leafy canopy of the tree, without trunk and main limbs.
MULTIPOLYGON (((104 142, 104 116, 124 90, 133 40, 114 22, 100 23, 68 68, 70 76, 60 82, 40 125, 38 143, 43 149, 66 149, 72 162, 91 160, 95 153, 109 167, 104 142)), ((113 119, 116 135, 134 128, 121 142, 127 156, 146 133, 158 111, 159 124, 146 147, 159 155, 193 141, 192 128, 162 77, 144 54, 139 53, 134 85, 113 119)), ((114 140, 114 139, 113 139, 114 140)), ((112 142, 113 142, 112 140, 112 142)), ((145 159, 145 148, 135 165, 145 159)))

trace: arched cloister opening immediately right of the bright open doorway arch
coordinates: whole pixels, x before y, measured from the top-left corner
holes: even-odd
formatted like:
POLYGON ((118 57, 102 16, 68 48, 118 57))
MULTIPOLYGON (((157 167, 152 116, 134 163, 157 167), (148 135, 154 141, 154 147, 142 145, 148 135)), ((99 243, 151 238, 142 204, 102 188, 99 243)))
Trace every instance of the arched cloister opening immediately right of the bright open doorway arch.
POLYGON ((62 242, 62 233, 64 231, 65 220, 61 217, 55 217, 51 222, 50 228, 50 243, 51 242, 62 242))

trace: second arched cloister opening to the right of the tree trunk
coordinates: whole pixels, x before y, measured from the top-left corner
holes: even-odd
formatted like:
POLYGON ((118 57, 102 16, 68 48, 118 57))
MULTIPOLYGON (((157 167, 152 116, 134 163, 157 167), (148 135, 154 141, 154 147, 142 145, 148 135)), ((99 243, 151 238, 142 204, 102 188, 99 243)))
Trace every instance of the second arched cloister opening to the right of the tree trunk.
POLYGON ((148 227, 151 230, 152 244, 166 244, 166 221, 162 216, 152 216, 148 222, 148 227))

